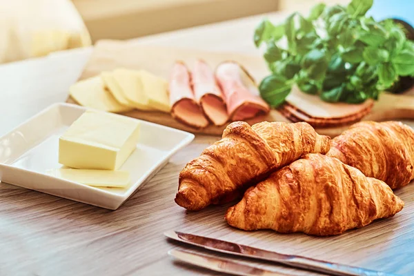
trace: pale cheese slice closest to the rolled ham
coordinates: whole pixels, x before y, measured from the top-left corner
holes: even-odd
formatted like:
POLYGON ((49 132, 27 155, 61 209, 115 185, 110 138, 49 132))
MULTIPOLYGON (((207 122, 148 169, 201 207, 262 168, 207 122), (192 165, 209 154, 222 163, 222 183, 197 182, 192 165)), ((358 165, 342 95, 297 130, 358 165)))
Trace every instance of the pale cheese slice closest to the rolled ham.
POLYGON ((170 99, 168 97, 168 82, 166 79, 152 75, 150 72, 140 70, 139 77, 144 88, 148 105, 151 108, 170 112, 170 99))

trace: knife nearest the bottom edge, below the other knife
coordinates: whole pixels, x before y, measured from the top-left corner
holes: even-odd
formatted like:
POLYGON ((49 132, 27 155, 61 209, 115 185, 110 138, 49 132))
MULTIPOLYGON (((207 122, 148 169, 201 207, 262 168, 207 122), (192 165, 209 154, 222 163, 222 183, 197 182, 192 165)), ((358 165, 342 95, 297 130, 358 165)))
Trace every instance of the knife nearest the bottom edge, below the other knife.
POLYGON ((264 270, 248 264, 240 264, 221 257, 213 257, 182 249, 171 249, 168 255, 179 259, 181 262, 201 266, 221 273, 241 276, 287 276, 287 274, 264 270))

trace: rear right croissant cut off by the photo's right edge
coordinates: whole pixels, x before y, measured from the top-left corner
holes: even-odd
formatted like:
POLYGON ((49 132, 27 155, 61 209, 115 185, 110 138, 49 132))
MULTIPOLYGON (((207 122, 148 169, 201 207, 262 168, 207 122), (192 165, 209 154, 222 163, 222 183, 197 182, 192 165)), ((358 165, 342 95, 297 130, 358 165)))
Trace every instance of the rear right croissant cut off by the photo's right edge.
POLYGON ((363 121, 335 137, 327 155, 400 188, 414 179, 414 130, 397 121, 363 121))

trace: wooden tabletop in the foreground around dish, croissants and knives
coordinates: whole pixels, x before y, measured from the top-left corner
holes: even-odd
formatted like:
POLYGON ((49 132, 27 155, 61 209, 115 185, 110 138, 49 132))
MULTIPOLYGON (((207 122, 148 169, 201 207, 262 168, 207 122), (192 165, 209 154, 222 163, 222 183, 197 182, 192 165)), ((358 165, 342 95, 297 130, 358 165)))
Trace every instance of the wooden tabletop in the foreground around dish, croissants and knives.
MULTIPOLYGON (((163 236, 171 229, 412 275, 413 184, 397 190, 406 206, 395 217, 335 237, 281 235, 268 230, 245 232, 224 221, 230 204, 210 206, 199 212, 177 206, 174 197, 179 171, 216 140, 198 136, 115 211, 0 184, 0 275, 209 275, 208 270, 168 257, 170 248, 182 246, 163 236)), ((253 263, 292 275, 310 275, 282 266, 253 263)))

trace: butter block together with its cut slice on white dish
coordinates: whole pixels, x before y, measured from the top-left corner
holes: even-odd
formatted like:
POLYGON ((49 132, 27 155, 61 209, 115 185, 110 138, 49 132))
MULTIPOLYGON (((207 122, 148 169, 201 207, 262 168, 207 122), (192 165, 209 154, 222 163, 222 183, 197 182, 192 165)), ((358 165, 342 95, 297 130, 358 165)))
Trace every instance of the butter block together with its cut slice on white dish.
POLYGON ((118 169, 138 139, 139 121, 88 110, 59 139, 59 163, 68 168, 48 174, 90 186, 126 187, 129 172, 118 169))

